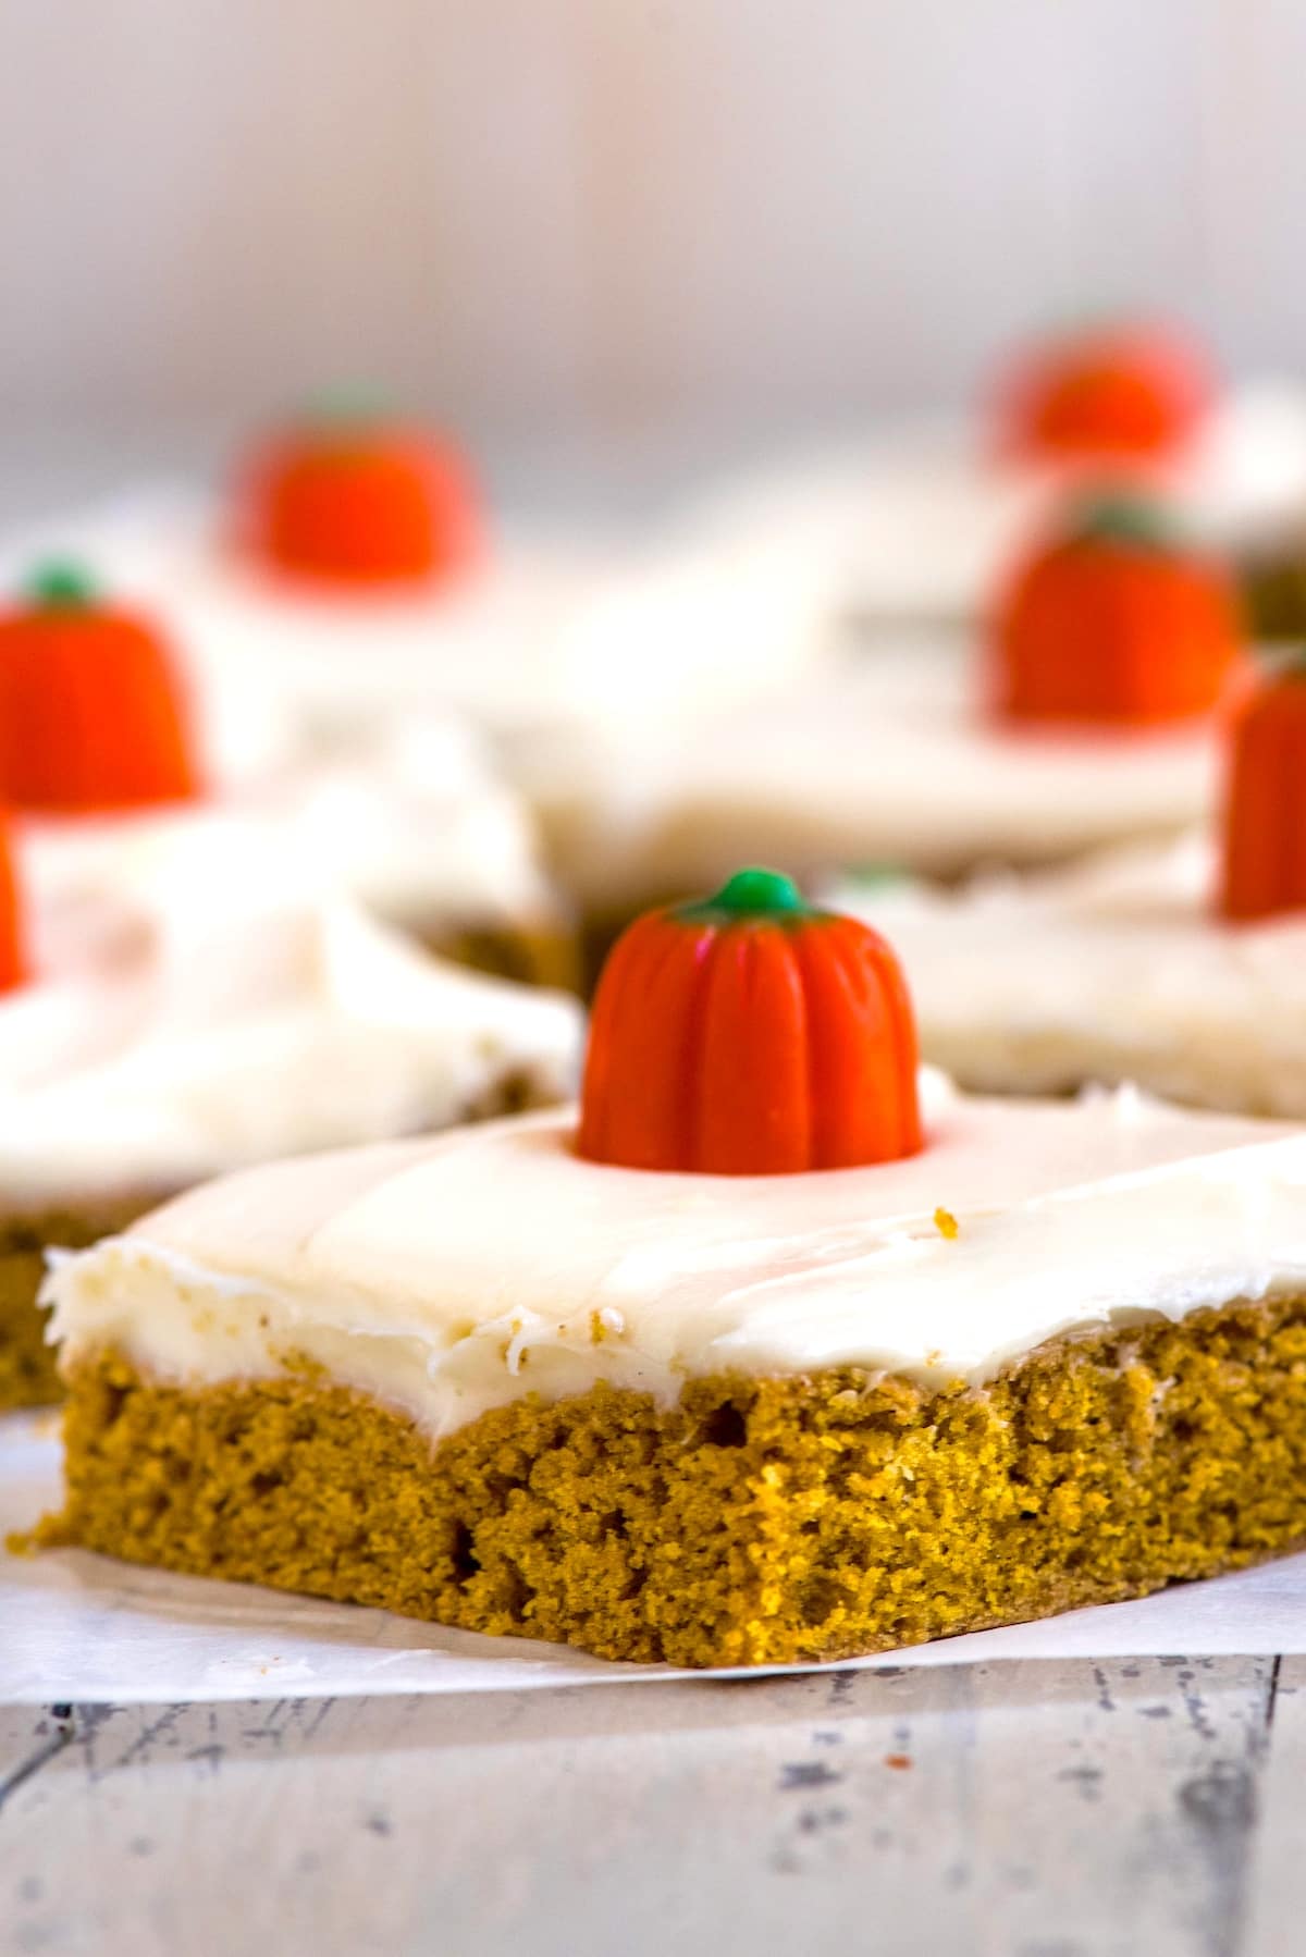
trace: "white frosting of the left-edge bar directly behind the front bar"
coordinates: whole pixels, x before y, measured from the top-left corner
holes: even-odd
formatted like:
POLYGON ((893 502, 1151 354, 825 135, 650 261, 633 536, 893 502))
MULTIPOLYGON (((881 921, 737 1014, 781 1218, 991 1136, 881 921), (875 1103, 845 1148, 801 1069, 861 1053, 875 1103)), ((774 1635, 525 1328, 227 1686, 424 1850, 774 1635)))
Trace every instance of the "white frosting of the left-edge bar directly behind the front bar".
POLYGON ((49 894, 35 965, 0 998, 10 1206, 178 1188, 446 1125, 509 1074, 536 1100, 576 1078, 574 1000, 419 953, 253 820, 157 834, 112 900, 49 894))

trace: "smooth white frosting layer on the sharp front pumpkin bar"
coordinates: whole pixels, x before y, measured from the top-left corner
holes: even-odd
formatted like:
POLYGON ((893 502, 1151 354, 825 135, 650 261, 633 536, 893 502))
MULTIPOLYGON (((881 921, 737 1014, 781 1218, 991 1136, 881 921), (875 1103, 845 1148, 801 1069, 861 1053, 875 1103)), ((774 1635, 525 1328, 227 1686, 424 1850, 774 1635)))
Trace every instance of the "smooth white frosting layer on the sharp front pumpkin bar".
POLYGON ((1306 1284, 1302 1133, 938 1078, 926 1112, 912 1161, 811 1176, 597 1166, 568 1112, 274 1164, 63 1262, 55 1331, 192 1384, 298 1354, 443 1434, 597 1380, 981 1382, 1063 1333, 1306 1284))

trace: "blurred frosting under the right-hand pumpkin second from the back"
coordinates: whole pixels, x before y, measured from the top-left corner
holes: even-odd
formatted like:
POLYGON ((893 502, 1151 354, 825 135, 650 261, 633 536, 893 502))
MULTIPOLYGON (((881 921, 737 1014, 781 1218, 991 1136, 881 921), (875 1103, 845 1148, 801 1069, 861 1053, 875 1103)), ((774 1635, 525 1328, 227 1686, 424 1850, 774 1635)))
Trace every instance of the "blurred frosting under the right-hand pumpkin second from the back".
POLYGON ((922 642, 674 740, 629 728, 535 742, 519 781, 564 881, 593 904, 701 890, 740 863, 957 875, 1055 861, 1175 832, 1210 806, 1208 728, 1012 732, 983 716, 973 660, 922 642))

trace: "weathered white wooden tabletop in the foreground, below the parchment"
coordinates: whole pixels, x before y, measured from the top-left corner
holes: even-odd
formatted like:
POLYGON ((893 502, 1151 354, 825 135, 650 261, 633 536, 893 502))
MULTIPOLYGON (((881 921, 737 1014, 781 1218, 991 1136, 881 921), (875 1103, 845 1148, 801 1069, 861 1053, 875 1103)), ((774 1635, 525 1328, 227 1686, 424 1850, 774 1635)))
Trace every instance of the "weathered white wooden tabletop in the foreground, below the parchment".
POLYGON ((1298 1957, 1306 1660, 0 1708, 0 1949, 1298 1957))

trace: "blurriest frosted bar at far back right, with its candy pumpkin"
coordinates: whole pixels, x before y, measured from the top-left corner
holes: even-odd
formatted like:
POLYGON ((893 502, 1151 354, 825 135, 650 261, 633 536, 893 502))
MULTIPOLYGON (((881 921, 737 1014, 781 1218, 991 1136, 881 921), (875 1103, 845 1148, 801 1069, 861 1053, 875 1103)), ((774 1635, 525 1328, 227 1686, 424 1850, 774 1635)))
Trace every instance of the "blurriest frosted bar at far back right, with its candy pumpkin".
POLYGON ((1257 638, 1306 618, 1300 387, 1216 389, 1200 346, 1120 319, 1012 348, 985 395, 965 417, 779 458, 719 489, 717 503, 760 542, 803 536, 832 554, 836 601, 862 626, 858 656, 893 628, 983 618, 1067 481, 1122 470, 1163 483, 1236 560, 1257 638))

